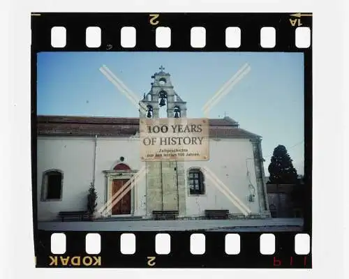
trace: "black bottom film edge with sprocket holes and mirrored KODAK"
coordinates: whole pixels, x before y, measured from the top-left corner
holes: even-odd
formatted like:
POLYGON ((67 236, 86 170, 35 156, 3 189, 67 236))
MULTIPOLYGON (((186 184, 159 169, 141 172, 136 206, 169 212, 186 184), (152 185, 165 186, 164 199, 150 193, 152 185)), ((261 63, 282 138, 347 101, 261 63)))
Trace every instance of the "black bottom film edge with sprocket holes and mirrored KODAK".
POLYGON ((311 268, 309 234, 39 232, 37 267, 311 268))

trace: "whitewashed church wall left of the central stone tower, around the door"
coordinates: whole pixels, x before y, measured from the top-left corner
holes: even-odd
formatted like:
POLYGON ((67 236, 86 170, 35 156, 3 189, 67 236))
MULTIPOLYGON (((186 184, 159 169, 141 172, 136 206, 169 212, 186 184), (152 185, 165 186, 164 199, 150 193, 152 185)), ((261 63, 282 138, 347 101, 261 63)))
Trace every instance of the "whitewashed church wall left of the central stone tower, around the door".
MULTIPOLYGON (((87 191, 93 181, 94 137, 38 137, 38 220, 52 220, 59 211, 78 211, 87 208, 87 191), (61 169, 64 173, 62 199, 57 202, 40 200, 43 172, 61 169)), ((95 188, 98 206, 105 204, 107 181, 103 171, 110 170, 123 156, 123 163, 139 170, 139 142, 131 139, 98 138, 96 147, 95 188)), ((133 193, 135 215, 145 214, 145 180, 133 193)))

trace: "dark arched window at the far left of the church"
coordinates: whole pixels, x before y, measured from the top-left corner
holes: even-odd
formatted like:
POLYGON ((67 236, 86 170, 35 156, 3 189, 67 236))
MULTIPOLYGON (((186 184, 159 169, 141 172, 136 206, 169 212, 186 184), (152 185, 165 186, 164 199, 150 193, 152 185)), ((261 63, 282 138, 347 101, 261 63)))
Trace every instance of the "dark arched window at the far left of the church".
POLYGON ((43 201, 61 200, 63 188, 63 173, 59 169, 49 170, 43 174, 43 201))

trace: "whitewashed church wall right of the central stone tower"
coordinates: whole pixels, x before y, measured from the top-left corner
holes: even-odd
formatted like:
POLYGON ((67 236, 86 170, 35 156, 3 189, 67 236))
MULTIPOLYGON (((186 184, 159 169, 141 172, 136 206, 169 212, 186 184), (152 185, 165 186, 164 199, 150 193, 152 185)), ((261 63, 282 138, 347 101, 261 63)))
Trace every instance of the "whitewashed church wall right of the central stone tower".
MULTIPOLYGON (((258 192, 255 179, 255 168, 252 144, 249 140, 210 140, 210 160, 206 162, 185 162, 186 172, 191 167, 207 167, 220 179, 227 188, 237 196, 252 212, 259 212, 258 192), (247 163, 247 167, 246 167, 247 163), (248 202, 248 176, 255 187, 255 202, 248 202)), ((190 195, 188 175, 186 175, 187 202, 186 215, 199 216, 205 209, 229 209, 230 213, 241 213, 233 202, 205 176, 205 195, 190 195)))

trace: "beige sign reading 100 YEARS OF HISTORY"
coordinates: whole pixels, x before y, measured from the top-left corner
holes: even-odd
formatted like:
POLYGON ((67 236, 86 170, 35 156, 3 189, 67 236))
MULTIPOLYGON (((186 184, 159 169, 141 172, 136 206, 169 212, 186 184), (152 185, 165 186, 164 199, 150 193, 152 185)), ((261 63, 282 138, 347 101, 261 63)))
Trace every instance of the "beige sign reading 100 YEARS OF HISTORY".
POLYGON ((209 119, 140 119, 140 159, 209 160, 209 119))

